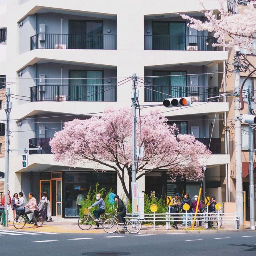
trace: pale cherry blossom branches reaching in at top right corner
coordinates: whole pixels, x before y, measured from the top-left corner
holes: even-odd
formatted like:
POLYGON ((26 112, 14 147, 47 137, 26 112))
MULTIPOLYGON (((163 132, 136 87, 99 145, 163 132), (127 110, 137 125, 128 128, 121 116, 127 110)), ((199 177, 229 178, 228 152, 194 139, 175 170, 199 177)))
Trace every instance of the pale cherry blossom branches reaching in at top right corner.
POLYGON ((217 43, 213 44, 214 46, 239 46, 252 51, 252 42, 256 38, 256 9, 254 8, 256 1, 248 2, 247 8, 238 6, 238 13, 232 15, 227 8, 227 1, 218 1, 220 4, 218 17, 212 10, 206 10, 201 1, 207 21, 202 22, 185 14, 181 14, 181 16, 190 20, 188 26, 191 28, 214 32, 214 37, 217 38, 217 43))

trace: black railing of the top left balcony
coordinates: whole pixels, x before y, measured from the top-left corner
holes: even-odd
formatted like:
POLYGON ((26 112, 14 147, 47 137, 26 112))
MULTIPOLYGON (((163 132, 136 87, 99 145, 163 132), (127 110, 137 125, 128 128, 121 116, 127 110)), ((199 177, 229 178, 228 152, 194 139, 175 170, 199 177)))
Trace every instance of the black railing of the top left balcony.
POLYGON ((116 50, 116 35, 36 34, 30 37, 30 50, 34 49, 116 50))

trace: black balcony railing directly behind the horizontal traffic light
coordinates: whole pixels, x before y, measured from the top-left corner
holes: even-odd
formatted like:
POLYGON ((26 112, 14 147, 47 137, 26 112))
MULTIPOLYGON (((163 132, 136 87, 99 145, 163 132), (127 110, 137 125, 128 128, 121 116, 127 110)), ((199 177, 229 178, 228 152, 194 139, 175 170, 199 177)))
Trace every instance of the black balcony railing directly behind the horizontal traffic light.
POLYGON ((146 102, 161 102, 166 98, 192 97, 194 102, 218 101, 220 87, 202 86, 144 86, 146 102), (210 99, 208 99, 210 98, 210 99))

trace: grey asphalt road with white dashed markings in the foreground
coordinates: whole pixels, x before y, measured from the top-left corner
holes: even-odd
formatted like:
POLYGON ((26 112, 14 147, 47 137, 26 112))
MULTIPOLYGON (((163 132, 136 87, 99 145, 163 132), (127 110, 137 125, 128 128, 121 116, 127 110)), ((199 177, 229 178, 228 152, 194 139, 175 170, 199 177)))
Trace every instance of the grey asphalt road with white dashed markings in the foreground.
POLYGON ((0 248, 3 254, 8 252, 15 256, 255 256, 256 231, 214 234, 179 234, 177 231, 172 234, 133 235, 0 230, 0 248))

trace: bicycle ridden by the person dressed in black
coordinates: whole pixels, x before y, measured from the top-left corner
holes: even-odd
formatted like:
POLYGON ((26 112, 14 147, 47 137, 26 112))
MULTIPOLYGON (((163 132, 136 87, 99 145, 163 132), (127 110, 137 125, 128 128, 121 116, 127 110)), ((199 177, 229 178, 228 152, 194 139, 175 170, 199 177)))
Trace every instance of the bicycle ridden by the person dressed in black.
MULTIPOLYGON (((120 223, 117 222, 116 214, 117 212, 115 212, 112 218, 105 220, 103 223, 103 229, 108 234, 112 234, 118 230, 118 224, 120 225, 120 223)), ((126 216, 124 228, 124 230, 127 230, 130 234, 137 234, 141 230, 141 223, 136 218, 129 219, 126 216)))

